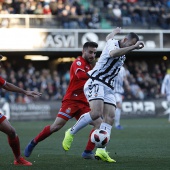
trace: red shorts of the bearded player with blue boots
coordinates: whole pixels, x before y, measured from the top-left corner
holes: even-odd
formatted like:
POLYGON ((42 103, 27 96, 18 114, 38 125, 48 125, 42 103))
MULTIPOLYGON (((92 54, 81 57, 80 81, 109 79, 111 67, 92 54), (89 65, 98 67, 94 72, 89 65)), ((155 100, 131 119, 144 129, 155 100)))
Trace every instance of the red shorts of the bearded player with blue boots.
POLYGON ((69 120, 73 117, 79 119, 81 115, 90 111, 89 103, 65 100, 62 102, 62 106, 58 112, 57 117, 61 117, 65 120, 69 120))

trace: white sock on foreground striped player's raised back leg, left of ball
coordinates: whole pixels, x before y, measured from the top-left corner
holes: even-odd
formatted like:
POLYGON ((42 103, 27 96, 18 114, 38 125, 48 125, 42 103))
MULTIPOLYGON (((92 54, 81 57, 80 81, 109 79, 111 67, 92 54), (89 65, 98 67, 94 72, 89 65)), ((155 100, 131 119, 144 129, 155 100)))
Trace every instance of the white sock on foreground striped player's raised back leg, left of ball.
POLYGON ((92 121, 93 120, 89 112, 81 115, 79 120, 77 120, 76 124, 71 128, 70 133, 72 135, 76 134, 80 129, 84 128, 86 125, 88 125, 92 121))

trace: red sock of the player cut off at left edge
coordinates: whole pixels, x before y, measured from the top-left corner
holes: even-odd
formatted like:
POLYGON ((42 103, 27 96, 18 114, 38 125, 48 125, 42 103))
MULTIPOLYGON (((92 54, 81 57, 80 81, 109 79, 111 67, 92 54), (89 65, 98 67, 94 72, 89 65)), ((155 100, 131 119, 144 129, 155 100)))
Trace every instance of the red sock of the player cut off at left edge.
POLYGON ((18 159, 21 155, 20 153, 20 142, 18 136, 15 139, 10 139, 8 136, 8 143, 12 149, 15 159, 18 159))

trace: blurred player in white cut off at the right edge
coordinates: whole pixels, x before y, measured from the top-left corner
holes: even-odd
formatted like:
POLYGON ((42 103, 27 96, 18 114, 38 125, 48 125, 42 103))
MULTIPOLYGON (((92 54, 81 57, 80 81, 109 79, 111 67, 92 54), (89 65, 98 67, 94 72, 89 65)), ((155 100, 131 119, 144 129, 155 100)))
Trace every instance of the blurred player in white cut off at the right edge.
MULTIPOLYGON (((167 106, 170 109, 170 69, 167 69, 167 73, 163 79, 161 86, 161 94, 163 96, 166 96, 167 106)), ((168 121, 170 122, 170 113, 168 121)))

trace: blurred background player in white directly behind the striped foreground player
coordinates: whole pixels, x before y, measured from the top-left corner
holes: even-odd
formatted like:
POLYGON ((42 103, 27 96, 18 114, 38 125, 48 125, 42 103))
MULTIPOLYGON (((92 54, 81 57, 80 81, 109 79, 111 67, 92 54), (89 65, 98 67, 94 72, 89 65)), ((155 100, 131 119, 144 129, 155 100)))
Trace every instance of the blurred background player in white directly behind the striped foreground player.
POLYGON ((121 67, 118 76, 114 81, 114 92, 116 99, 116 111, 115 111, 115 128, 118 130, 122 130, 123 127, 120 125, 120 116, 122 109, 122 100, 124 94, 124 87, 127 90, 130 90, 129 82, 127 80, 127 72, 124 67, 121 67))

